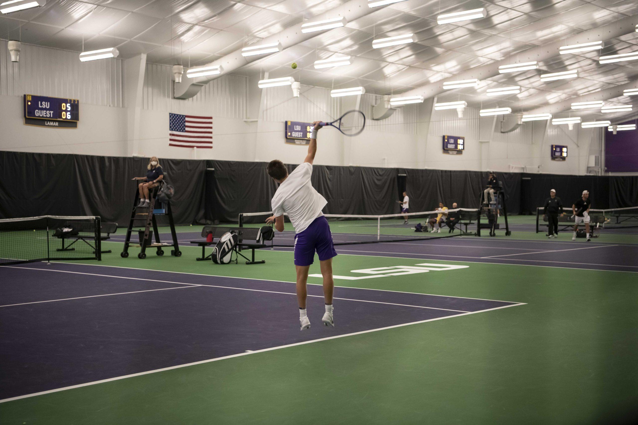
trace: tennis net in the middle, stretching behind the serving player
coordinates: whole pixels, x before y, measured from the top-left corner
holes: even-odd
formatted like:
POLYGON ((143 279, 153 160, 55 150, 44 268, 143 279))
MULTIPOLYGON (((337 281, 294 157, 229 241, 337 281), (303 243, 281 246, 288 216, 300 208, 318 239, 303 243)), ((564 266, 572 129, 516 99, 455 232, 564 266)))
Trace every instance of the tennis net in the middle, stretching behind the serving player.
MULTIPOLYGON (((375 242, 397 242, 424 239, 449 238, 470 234, 468 226, 476 226, 479 210, 469 208, 456 208, 447 210, 445 213, 439 211, 414 212, 406 214, 388 215, 348 215, 348 214, 325 214, 330 222, 330 231, 335 245, 353 245, 356 243, 375 242), (445 218, 450 212, 458 212, 453 231, 445 224, 445 218), (431 233, 429 220, 441 214, 440 226, 436 224, 436 232, 431 233), (407 223, 404 216, 407 216, 407 223), (417 231, 415 227, 420 224, 422 231, 417 231), (439 231, 440 229, 440 231, 439 231)), ((260 227, 265 224, 265 220, 272 215, 272 212, 241 213, 239 214, 240 227, 260 227)), ((284 231, 275 232, 272 240, 274 247, 292 247, 295 243, 295 230, 284 217, 284 231)))

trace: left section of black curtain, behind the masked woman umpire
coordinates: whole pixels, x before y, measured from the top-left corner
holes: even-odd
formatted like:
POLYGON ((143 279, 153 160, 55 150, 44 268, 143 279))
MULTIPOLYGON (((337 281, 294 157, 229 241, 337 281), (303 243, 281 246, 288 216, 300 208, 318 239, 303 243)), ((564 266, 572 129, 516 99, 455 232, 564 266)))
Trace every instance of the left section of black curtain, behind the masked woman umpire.
MULTIPOLYGON (((0 217, 99 215, 128 226, 147 158, 0 152, 0 217)), ((204 221, 205 161, 159 159, 175 187, 175 223, 204 221)), ((163 224, 166 217, 159 217, 163 224)))

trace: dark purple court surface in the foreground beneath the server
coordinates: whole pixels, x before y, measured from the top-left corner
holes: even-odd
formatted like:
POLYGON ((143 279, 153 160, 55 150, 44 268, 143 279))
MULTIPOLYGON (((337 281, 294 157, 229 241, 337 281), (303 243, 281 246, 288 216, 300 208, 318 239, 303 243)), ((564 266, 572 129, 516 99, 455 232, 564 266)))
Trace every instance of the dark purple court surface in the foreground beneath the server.
POLYGON ((309 285, 318 313, 300 332, 289 282, 66 263, 1 271, 0 400, 522 304, 339 287, 327 328, 322 288, 309 285))

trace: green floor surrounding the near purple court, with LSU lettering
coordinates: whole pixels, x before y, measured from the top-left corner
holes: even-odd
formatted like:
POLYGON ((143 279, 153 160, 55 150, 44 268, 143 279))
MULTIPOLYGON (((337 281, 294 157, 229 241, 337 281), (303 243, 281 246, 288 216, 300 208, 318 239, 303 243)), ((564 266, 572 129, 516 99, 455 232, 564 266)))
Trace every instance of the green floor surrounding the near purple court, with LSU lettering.
MULTIPOLYGON (((196 247, 140 261, 104 245, 114 250, 103 256, 105 275, 107 266, 148 268, 294 289, 292 252, 219 266, 194 261, 196 247)), ((638 274, 359 255, 336 257, 334 274, 420 263, 467 267, 335 284, 525 304, 9 401, 0 423, 588 424, 638 413, 638 274)))

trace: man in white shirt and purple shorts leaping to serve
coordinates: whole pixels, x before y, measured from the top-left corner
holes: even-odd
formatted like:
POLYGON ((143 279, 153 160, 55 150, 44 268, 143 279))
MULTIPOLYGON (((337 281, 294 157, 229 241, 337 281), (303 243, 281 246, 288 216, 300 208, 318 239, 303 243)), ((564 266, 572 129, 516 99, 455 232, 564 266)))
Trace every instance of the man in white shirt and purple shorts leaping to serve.
POLYGON ((337 255, 332 242, 332 233, 328 220, 322 213, 327 201, 310 182, 313 173, 313 161, 317 151, 316 135, 322 127, 319 121, 313 122, 313 131, 308 146, 308 155, 303 164, 288 174, 283 162, 275 159, 267 166, 268 175, 279 184, 272 197, 272 217, 266 222, 274 223, 279 232, 283 232, 283 213, 295 228, 295 268, 297 268, 297 301, 299 303, 299 321, 301 330, 310 328, 310 320, 306 312, 306 281, 308 270, 313 264, 315 250, 319 256, 321 274, 323 275, 323 298, 325 313, 322 322, 325 326, 334 326, 332 317, 332 257, 337 255))

